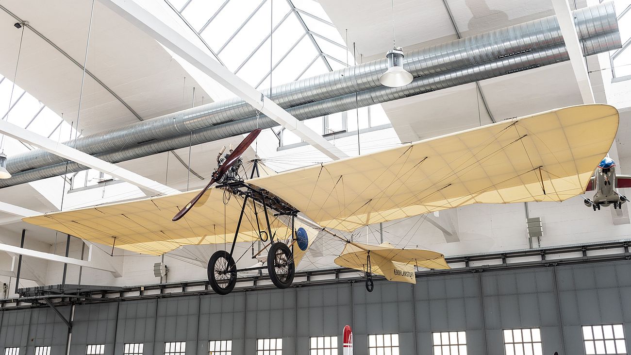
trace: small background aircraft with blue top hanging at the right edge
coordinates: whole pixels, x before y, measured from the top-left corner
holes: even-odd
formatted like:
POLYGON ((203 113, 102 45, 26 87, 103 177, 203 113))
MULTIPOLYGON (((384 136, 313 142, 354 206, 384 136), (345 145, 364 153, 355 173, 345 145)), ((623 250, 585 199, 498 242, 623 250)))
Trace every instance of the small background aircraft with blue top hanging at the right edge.
POLYGON ((594 176, 587 184, 585 191, 596 191, 593 198, 586 198, 584 203, 587 207, 600 210, 600 207, 613 205, 613 208, 622 208, 622 204, 628 201, 627 196, 620 195, 616 188, 630 188, 631 176, 616 174, 616 162, 610 157, 601 160, 594 176))

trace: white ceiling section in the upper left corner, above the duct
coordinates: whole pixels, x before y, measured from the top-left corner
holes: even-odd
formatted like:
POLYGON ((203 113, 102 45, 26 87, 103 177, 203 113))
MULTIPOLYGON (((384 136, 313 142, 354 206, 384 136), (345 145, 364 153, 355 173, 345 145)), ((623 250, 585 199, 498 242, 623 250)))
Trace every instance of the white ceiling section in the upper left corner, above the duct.
MULTIPOLYGON (((85 59, 91 1, 3 0, 7 8, 67 52, 85 59)), ((0 10, 0 74, 13 79, 21 30, 15 18, 0 10)), ((122 98, 142 119, 210 102, 190 75, 158 42, 95 2, 86 68, 122 98), (186 85, 185 78, 186 77, 186 85)), ((83 71, 31 30, 24 31, 16 84, 66 121, 76 124, 83 71), (42 60, 45 58, 45 60, 42 60)), ((93 133, 137 122, 129 109, 86 76, 80 129, 93 133)))

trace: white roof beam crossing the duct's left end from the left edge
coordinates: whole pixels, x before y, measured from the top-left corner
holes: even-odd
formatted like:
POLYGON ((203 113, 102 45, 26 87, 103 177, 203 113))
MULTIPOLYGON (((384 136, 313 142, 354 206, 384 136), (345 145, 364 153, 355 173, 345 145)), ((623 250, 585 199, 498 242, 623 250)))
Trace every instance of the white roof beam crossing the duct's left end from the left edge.
POLYGON ((160 184, 157 181, 145 178, 135 172, 128 171, 122 167, 105 162, 97 157, 93 157, 88 153, 81 152, 80 150, 68 147, 68 145, 40 136, 37 133, 28 131, 27 129, 16 126, 15 124, 8 123, 7 121, 0 121, 0 133, 10 136, 11 138, 15 138, 16 140, 29 143, 35 147, 44 149, 47 152, 59 155, 60 157, 73 160, 81 165, 86 165, 92 169, 104 172, 105 174, 119 178, 127 183, 134 184, 139 188, 165 195, 180 192, 166 185, 160 184))

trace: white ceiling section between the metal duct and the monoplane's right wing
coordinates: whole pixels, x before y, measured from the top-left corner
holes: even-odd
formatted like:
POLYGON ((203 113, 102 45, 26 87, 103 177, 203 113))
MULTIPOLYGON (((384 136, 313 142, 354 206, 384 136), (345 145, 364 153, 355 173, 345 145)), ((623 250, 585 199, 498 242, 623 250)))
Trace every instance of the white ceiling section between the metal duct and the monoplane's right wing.
MULTIPOLYGON (((582 104, 569 62, 480 81, 495 121, 582 104)), ((475 83, 382 104, 401 141, 491 123, 475 83)))

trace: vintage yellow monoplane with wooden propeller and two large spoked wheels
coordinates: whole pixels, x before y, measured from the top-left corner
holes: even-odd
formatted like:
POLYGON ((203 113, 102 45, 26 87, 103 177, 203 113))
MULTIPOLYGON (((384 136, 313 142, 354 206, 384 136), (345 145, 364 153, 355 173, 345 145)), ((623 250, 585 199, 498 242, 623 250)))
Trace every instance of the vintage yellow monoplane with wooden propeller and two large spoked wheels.
POLYGON ((238 271, 264 268, 274 285, 290 286, 295 266, 318 232, 326 231, 346 243, 336 262, 365 272, 372 291, 372 274, 415 283, 415 266, 449 266, 440 253, 355 243, 338 231, 473 203, 561 202, 581 195, 617 129, 614 107, 579 105, 243 179, 233 167, 257 129, 200 191, 23 220, 151 255, 223 243, 208 263, 209 284, 219 294, 232 291, 238 271), (235 261, 238 242, 252 243, 252 258, 267 250, 267 266, 237 270, 243 256, 235 261))

